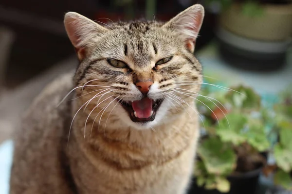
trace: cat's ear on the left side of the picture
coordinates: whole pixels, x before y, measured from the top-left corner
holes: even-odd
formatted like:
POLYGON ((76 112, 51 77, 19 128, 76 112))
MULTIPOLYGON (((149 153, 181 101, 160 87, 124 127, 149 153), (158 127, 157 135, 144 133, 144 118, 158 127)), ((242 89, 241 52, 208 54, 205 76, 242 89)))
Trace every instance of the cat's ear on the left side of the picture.
POLYGON ((108 31, 91 19, 75 12, 68 12, 65 15, 64 25, 79 60, 85 57, 86 48, 90 45, 92 38, 96 37, 98 33, 108 31))

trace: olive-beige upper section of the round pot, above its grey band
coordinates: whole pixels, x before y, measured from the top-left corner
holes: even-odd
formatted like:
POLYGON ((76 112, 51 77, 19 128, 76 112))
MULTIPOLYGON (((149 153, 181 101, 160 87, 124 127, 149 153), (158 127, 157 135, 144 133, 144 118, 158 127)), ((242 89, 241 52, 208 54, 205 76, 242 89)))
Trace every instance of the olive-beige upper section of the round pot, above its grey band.
POLYGON ((240 4, 233 4, 222 12, 222 28, 241 37, 259 41, 284 41, 292 34, 292 3, 261 5, 262 16, 247 16, 240 4))

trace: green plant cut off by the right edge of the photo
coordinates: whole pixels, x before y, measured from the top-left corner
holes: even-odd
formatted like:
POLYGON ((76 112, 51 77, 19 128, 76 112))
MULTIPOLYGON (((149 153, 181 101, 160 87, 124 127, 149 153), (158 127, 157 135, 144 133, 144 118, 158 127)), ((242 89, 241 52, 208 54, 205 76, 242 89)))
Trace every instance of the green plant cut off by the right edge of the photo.
POLYGON ((273 115, 266 115, 266 120, 273 120, 273 133, 278 135, 278 141, 272 150, 274 162, 264 168, 264 174, 272 177, 276 190, 292 192, 292 90, 287 88, 279 94, 273 115))

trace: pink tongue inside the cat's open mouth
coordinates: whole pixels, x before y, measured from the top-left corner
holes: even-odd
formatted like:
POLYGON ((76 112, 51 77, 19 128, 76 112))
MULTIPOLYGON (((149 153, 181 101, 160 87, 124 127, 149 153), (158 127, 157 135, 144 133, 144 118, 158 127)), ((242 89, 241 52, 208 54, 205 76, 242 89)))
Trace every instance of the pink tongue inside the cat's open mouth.
POLYGON ((132 107, 138 118, 148 118, 151 116, 152 100, 144 97, 142 100, 132 102, 132 107))

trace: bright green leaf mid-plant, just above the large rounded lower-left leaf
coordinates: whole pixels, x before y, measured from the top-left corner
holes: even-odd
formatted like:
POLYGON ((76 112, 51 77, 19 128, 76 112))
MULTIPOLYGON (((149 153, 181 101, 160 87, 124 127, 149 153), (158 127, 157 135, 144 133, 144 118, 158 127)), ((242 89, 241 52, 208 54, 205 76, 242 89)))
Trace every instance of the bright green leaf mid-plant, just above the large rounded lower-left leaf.
POLYGON ((246 116, 239 113, 229 113, 226 115, 226 118, 220 120, 220 125, 217 125, 217 134, 223 142, 239 145, 245 141, 241 131, 246 123, 246 116))

